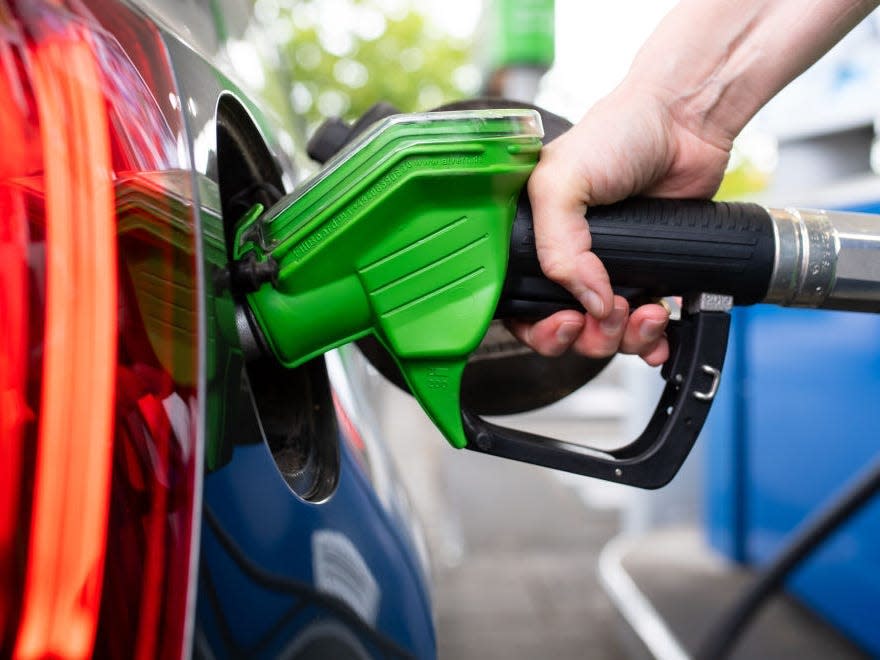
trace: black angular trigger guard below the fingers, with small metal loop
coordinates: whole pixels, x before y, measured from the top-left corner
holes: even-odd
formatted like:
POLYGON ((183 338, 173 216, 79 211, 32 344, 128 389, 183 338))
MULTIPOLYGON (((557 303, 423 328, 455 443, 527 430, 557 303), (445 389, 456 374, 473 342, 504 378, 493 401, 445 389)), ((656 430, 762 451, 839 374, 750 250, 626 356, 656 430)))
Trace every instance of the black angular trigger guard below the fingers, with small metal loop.
POLYGON ((709 414, 730 331, 729 297, 699 294, 685 302, 681 319, 670 322, 667 331, 672 355, 662 370, 666 387, 633 442, 602 451, 498 426, 462 410, 467 448, 640 488, 664 486, 687 458, 709 414))

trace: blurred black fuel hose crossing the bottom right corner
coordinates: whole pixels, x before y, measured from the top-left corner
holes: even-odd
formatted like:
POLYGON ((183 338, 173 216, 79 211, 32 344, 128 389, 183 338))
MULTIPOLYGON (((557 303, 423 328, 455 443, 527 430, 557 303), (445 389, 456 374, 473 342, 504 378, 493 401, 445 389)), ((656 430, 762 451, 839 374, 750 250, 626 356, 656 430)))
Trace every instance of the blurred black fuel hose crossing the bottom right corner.
POLYGON ((696 660, 719 660, 730 655, 761 607, 785 581, 834 532, 880 491, 880 459, 849 482, 821 511, 797 530, 783 548, 746 589, 724 617, 710 630, 695 654, 696 660))

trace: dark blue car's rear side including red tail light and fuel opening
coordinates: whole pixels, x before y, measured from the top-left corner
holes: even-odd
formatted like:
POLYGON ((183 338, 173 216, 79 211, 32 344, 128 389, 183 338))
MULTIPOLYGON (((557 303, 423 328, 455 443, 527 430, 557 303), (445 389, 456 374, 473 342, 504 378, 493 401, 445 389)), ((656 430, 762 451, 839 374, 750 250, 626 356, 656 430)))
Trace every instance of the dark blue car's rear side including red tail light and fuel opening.
POLYGON ((272 26, 0 10, 0 655, 433 657, 363 364, 237 326, 235 221, 300 176, 272 26))

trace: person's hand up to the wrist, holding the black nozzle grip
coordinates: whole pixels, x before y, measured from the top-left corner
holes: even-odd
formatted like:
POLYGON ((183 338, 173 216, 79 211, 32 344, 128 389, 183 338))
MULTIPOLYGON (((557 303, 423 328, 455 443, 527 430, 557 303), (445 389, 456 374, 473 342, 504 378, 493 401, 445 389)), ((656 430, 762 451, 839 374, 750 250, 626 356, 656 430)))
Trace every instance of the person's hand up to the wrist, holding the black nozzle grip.
POLYGON ((528 185, 538 258, 544 274, 588 314, 566 310, 536 323, 511 323, 517 338, 542 355, 573 348, 589 357, 620 351, 650 365, 665 362, 668 313, 656 304, 630 311, 626 299, 613 295, 608 273, 590 252, 589 207, 636 194, 711 197, 731 143, 686 127, 662 90, 624 83, 545 146, 528 185))

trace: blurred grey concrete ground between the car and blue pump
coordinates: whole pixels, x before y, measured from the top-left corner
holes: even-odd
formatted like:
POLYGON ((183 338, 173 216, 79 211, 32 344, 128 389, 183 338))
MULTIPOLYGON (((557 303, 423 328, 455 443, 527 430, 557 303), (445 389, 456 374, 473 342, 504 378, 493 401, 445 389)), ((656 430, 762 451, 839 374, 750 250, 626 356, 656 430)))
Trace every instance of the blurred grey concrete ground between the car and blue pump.
MULTIPOLYGON (((598 396, 605 397, 605 409, 632 407, 615 400, 613 372, 612 382, 601 378, 598 396)), ((699 499, 699 457, 688 461, 675 488, 638 491, 454 450, 411 397, 381 381, 372 394, 424 525, 441 660, 651 657, 600 584, 600 553, 622 529, 637 542, 621 567, 683 647, 674 657, 693 652, 750 579, 705 547, 693 511, 668 514, 699 499), (643 512, 647 522, 633 525, 631 514, 620 513, 629 510, 643 512)), ((608 447, 632 434, 619 415, 594 411, 585 419, 565 405, 513 421, 527 430, 608 447)), ((505 423, 514 425, 510 418, 505 423)), ((762 660, 861 657, 787 598, 767 608, 734 654, 762 660)))

